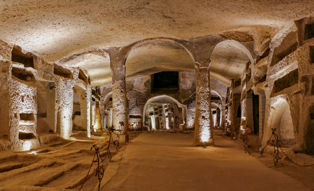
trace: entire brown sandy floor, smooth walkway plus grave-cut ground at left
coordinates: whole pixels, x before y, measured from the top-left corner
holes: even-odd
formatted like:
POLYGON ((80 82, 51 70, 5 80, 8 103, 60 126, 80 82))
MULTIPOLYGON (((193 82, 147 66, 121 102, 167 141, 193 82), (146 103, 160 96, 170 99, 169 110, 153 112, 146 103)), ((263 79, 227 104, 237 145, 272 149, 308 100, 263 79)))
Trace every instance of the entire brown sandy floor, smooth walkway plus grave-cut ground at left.
MULTIPOLYGON (((115 160, 101 163, 107 179, 102 190, 314 190, 314 171, 287 160, 274 166, 271 155, 249 156, 241 142, 214 133, 215 147, 193 147, 193 132, 174 130, 136 135, 121 152, 112 146, 115 160)), ((80 139, 56 140, 30 152, 1 151, 0 191, 78 190, 94 154, 90 146, 98 143, 102 151, 108 144, 106 138, 80 139)), ((81 190, 95 190, 92 174, 81 190)))

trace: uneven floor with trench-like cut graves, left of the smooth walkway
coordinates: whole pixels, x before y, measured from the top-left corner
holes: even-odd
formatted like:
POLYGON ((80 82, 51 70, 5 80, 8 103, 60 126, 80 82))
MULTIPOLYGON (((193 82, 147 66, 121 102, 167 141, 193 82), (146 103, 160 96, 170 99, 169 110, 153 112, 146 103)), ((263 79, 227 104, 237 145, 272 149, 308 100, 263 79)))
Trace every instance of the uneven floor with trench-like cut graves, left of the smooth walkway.
MULTIPOLYGON (((97 144, 104 157, 107 138, 78 137, 76 140, 55 140, 29 152, 0 152, 0 190, 78 190, 94 156, 91 146, 97 144)), ((117 152, 110 145, 112 156, 117 152)), ((97 160, 97 158, 95 158, 97 160)), ((101 162, 106 169, 109 159, 101 162)), ((91 172, 81 189, 93 190, 98 180, 91 172)))

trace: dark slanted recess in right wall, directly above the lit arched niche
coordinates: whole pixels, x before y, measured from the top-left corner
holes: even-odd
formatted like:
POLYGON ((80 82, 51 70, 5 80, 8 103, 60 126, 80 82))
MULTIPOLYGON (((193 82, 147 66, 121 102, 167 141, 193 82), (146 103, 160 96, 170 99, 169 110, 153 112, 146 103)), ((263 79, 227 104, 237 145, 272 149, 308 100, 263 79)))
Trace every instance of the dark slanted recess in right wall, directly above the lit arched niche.
POLYGON ((295 69, 288 74, 286 74, 284 77, 276 80, 273 85, 273 93, 277 93, 279 91, 282 91, 288 87, 291 87, 295 84, 297 84, 299 81, 299 69, 295 69))

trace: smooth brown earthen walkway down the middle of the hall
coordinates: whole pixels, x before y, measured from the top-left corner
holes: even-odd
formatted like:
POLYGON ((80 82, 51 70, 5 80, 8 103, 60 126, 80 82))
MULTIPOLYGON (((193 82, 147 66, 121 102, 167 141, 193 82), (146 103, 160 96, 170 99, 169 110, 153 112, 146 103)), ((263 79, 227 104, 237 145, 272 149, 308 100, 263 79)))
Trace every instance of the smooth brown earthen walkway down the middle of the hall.
POLYGON ((194 133, 143 133, 103 190, 311 190, 217 134, 215 147, 193 147, 194 133))

